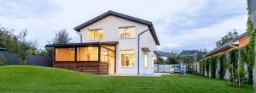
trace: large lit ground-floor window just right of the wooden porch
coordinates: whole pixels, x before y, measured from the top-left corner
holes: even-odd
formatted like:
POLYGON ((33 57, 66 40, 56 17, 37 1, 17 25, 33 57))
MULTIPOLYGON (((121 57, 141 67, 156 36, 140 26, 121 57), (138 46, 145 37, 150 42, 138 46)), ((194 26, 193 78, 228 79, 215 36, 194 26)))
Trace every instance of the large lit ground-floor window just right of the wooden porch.
POLYGON ((133 50, 124 50, 120 51, 120 67, 133 67, 134 66, 134 51, 133 50))

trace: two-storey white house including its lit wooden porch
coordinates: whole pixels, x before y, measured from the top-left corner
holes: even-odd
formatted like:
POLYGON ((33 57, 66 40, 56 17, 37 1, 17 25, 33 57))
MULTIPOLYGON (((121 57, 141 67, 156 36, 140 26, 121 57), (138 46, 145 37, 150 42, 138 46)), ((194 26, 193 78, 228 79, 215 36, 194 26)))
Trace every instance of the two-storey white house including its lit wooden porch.
POLYGON ((108 11, 74 28, 80 43, 53 44, 53 67, 91 74, 154 74, 152 22, 108 11))

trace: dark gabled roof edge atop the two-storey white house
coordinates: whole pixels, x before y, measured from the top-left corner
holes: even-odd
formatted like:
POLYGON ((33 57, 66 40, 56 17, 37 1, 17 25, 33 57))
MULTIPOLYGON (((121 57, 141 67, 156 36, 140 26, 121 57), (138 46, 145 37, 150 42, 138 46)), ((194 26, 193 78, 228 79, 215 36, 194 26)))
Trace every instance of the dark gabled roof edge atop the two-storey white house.
POLYGON ((113 15, 113 16, 116 16, 116 17, 119 17, 119 18, 122 18, 122 19, 128 19, 128 20, 131 20, 131 21, 143 24, 143 25, 148 25, 148 28, 150 29, 151 35, 153 36, 155 43, 157 45, 160 45, 160 42, 158 41, 158 38, 157 38, 155 30, 154 30, 154 25, 152 24, 152 22, 150 22, 148 20, 144 20, 144 19, 138 19, 138 18, 129 16, 129 15, 125 15, 125 14, 119 14, 119 13, 113 12, 111 10, 109 10, 108 12, 106 12, 104 14, 101 14, 101 15, 97 16, 94 19, 90 19, 89 21, 85 22, 82 25, 79 25, 79 26, 75 27, 74 30, 80 31, 84 27, 89 26, 91 24, 94 24, 95 22, 97 22, 101 19, 104 19, 104 18, 108 17, 109 15, 113 15))

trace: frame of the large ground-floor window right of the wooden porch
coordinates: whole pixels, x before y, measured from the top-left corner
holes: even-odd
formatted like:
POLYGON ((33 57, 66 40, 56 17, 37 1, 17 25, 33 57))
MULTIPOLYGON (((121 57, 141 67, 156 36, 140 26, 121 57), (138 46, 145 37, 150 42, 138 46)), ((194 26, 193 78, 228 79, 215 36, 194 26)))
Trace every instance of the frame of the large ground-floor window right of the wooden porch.
MULTIPOLYGON (((133 67, 135 67, 135 64, 136 64, 136 63, 135 63, 135 51, 134 51, 133 49, 130 49, 130 50, 120 50, 120 51, 119 51, 119 56, 120 56, 120 57, 119 57, 119 61, 120 61, 119 67, 120 67, 120 68, 133 68, 133 67), (134 56, 133 59, 132 59, 133 62, 134 62, 133 66, 130 66, 130 65, 129 65, 129 66, 126 66, 126 65, 125 65, 126 62, 124 62, 125 64, 124 64, 124 66, 122 66, 122 58, 121 58, 121 57, 122 57, 122 51, 126 51, 126 52, 127 52, 127 51, 133 51, 133 53, 126 53, 126 52, 125 52, 125 54, 124 54, 125 56, 126 56, 126 55, 133 55, 133 56, 134 56)), ((126 59, 126 58, 125 58, 125 59, 126 59)), ((125 59, 124 59, 124 60, 125 60, 125 59)))

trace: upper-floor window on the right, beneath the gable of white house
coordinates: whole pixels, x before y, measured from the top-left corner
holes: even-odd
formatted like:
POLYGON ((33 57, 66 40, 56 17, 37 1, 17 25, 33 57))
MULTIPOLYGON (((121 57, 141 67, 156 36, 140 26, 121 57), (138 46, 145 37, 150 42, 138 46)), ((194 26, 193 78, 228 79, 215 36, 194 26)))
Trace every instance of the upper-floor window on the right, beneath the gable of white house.
POLYGON ((119 38, 135 38, 135 28, 134 27, 121 27, 119 28, 119 38))

